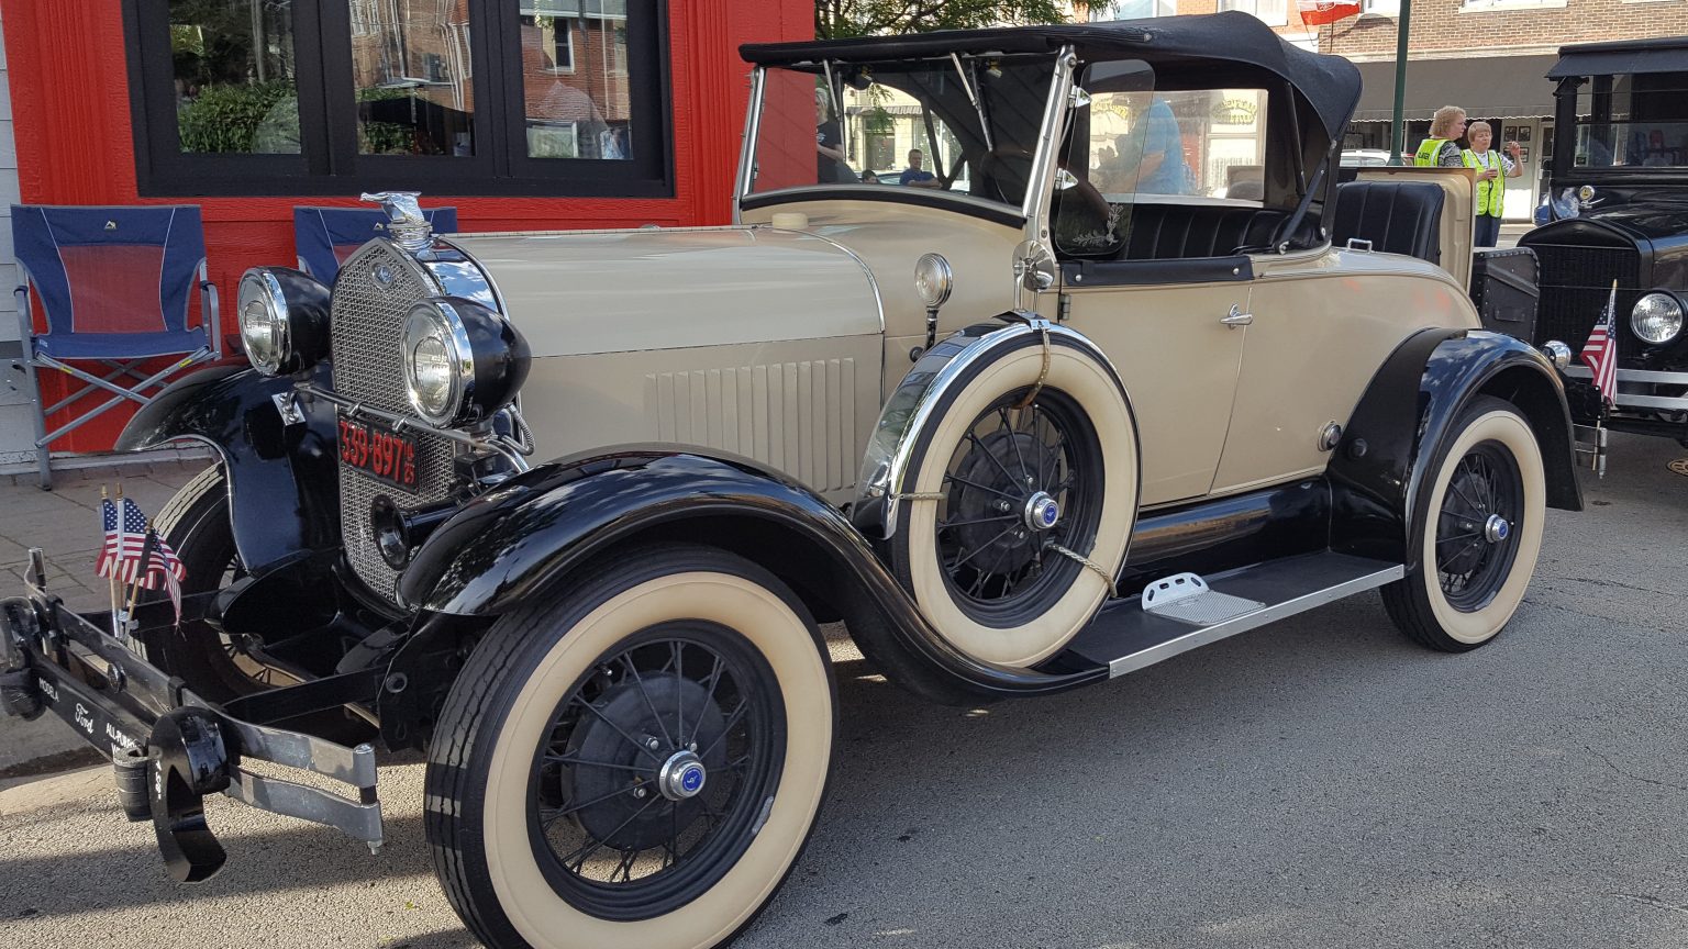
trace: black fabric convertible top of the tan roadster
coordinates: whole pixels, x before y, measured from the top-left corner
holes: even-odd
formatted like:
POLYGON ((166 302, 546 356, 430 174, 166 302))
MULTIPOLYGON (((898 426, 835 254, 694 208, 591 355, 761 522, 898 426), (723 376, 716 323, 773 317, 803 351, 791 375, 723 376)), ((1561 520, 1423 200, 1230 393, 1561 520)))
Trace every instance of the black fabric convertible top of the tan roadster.
MULTIPOLYGON (((1288 81, 1335 138, 1361 98, 1361 73, 1340 56, 1307 52, 1242 12, 1156 17, 1112 24, 939 30, 928 34, 746 44, 739 54, 758 66, 800 66, 830 59, 866 62, 984 52, 1055 52, 1074 46, 1079 59, 1143 59, 1160 73, 1200 74, 1210 84, 1237 83, 1264 71, 1288 81)), ((1239 83, 1241 84, 1241 83, 1239 83)))

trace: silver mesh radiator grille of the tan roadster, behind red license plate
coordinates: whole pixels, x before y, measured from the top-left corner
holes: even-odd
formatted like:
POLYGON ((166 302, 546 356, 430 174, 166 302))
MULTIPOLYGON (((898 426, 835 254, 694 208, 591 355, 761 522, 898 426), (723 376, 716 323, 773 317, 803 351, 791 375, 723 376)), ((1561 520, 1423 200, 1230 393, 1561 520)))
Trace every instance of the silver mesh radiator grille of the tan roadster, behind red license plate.
MULTIPOLYGON (((427 272, 387 241, 368 243, 353 253, 334 282, 334 392, 373 409, 419 419, 405 397, 398 334, 410 307, 437 292, 427 272)), ((339 466, 339 525, 346 559, 370 589, 390 601, 397 601, 393 584, 398 572, 387 566, 375 547, 370 502, 376 495, 388 495, 403 508, 444 500, 452 490, 456 442, 430 434, 415 437, 415 493, 356 468, 339 466)))

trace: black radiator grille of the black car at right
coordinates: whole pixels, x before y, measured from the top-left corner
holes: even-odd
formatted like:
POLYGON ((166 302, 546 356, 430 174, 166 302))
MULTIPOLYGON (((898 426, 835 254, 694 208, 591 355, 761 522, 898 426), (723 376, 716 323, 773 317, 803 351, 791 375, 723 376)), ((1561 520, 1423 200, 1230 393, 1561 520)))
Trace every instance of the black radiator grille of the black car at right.
MULTIPOLYGON (((1605 302, 1617 280, 1619 326, 1641 294, 1641 255, 1622 247, 1529 245, 1541 262, 1541 302, 1536 311, 1536 339, 1558 339, 1580 351, 1593 324, 1605 314, 1605 302)), ((1622 348, 1619 348, 1622 353, 1622 348)))

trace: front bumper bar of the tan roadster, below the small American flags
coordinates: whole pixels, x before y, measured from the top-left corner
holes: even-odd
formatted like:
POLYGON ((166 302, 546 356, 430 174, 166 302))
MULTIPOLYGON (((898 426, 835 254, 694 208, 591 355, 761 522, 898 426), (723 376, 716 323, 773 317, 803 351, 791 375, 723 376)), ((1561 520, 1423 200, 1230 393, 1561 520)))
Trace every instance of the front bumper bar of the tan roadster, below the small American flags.
MULTIPOLYGON (((110 753, 123 811, 132 821, 152 821, 174 880, 208 880, 226 860, 204 819, 204 797, 216 792, 336 827, 371 851, 381 846, 370 745, 348 748, 245 721, 194 696, 101 628, 98 620, 108 615, 83 616, 49 594, 41 550, 30 550, 30 561, 27 596, 0 599, 0 706, 22 718, 51 711, 110 753), (252 762, 333 778, 353 795, 260 775, 246 767, 252 762)), ((157 608, 138 613, 169 621, 157 608)))

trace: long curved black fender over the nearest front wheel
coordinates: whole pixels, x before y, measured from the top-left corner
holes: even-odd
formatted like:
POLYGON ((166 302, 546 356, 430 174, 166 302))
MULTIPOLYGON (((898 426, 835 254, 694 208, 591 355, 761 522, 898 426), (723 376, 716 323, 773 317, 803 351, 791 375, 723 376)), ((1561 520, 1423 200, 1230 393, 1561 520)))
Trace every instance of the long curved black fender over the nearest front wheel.
POLYGON ((1104 679, 1041 674, 950 648, 842 512, 756 463, 694 449, 626 447, 554 461, 466 503, 398 578, 410 606, 495 616, 533 601, 611 549, 687 540, 741 554, 822 616, 839 616, 886 674, 939 701, 1020 696, 1104 679))

